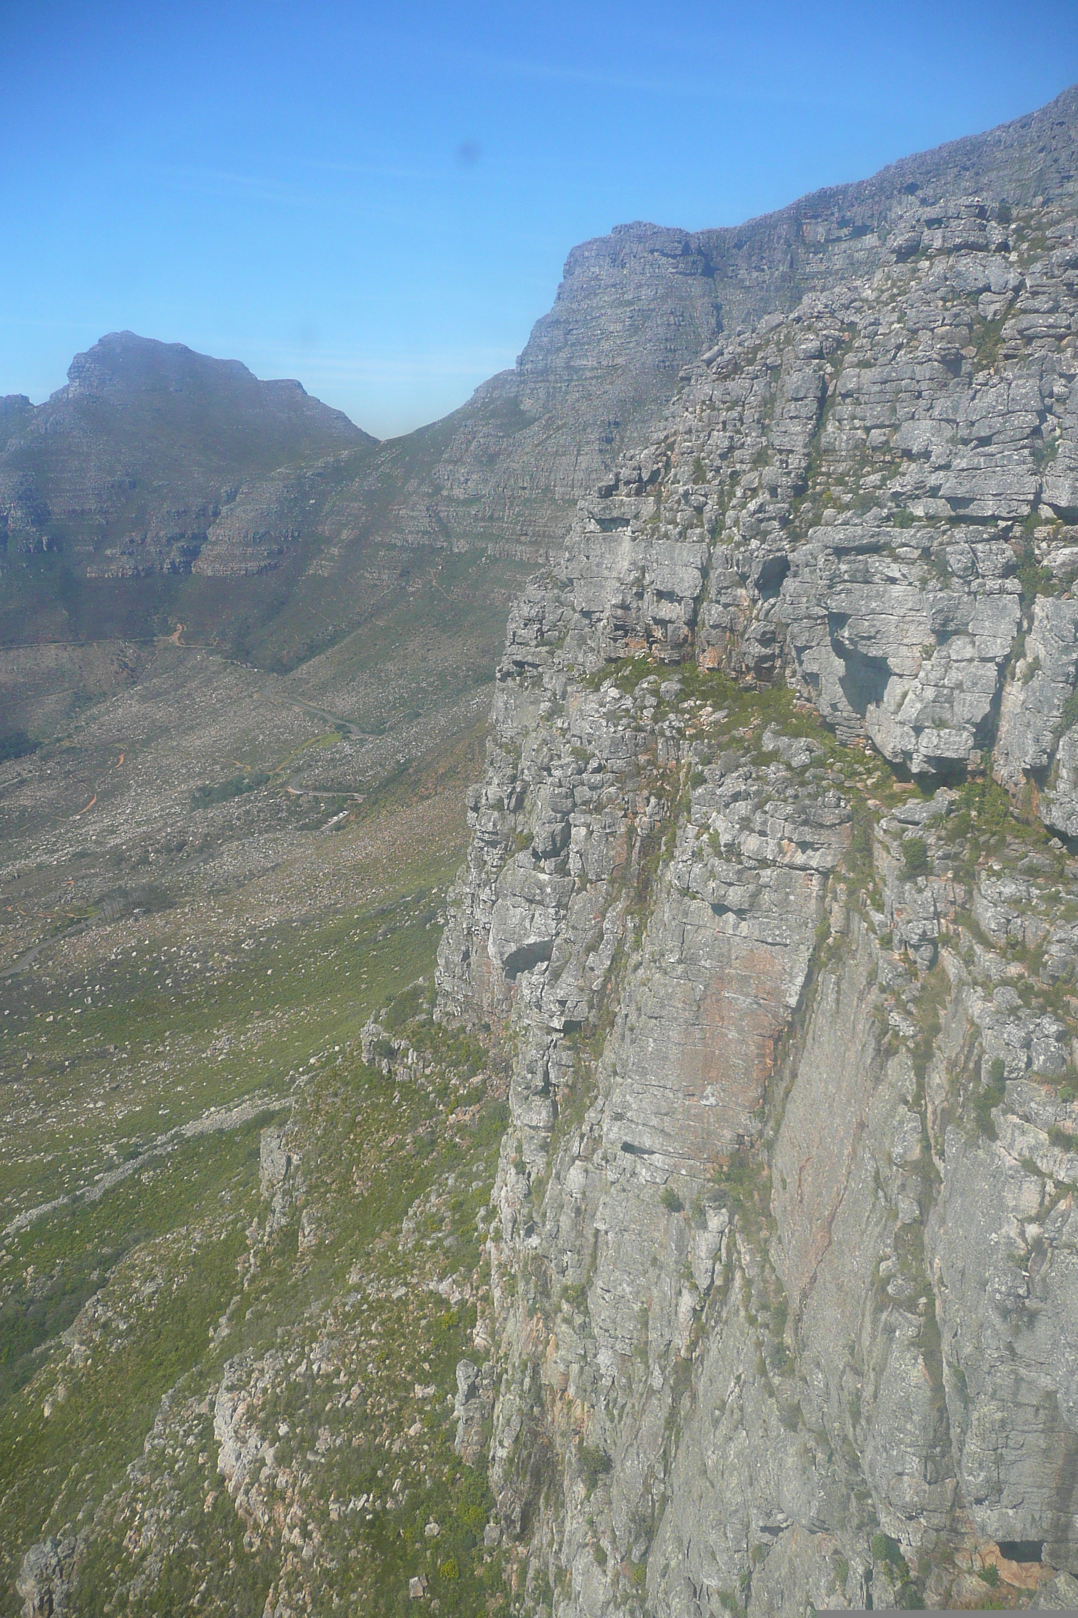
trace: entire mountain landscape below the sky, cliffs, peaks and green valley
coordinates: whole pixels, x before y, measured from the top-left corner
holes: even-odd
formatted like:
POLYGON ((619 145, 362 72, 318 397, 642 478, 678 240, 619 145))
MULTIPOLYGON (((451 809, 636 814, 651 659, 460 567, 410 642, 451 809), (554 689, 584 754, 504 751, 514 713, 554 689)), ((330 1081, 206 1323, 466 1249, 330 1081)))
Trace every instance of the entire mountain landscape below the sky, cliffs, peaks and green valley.
POLYGON ((1076 157, 5 403, 0 1612, 1078 1605, 1076 157))

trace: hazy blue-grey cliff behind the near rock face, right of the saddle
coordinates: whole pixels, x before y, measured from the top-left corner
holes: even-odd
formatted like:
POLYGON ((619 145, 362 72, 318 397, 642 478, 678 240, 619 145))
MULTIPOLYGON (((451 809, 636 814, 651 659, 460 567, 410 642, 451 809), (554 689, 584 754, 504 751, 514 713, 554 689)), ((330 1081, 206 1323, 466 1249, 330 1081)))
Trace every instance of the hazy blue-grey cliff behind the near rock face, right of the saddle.
POLYGON ((1076 113, 1070 89, 1015 123, 745 225, 619 225, 574 248, 516 369, 435 429, 436 456, 411 461, 404 498, 378 529, 412 542, 559 544, 572 502, 651 437, 679 369, 721 330, 916 252, 931 209, 949 197, 1028 205, 1073 196, 1076 113))

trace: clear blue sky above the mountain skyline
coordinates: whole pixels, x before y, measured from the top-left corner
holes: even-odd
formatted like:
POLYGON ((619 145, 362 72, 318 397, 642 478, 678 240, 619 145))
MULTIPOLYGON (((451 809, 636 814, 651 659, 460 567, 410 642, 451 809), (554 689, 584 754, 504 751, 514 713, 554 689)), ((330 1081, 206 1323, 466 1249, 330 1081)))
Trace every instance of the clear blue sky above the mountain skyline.
POLYGON ((386 437, 569 248, 737 223, 1078 79, 1078 0, 0 0, 0 393, 131 328, 386 437))

